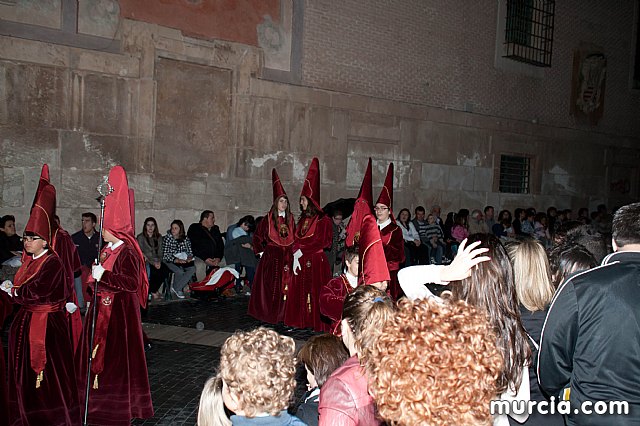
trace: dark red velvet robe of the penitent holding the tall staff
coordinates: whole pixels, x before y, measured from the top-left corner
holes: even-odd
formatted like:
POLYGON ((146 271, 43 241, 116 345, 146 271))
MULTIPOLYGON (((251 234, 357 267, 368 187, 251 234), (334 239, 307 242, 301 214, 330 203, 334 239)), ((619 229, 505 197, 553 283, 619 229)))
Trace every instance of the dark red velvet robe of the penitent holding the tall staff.
MULTIPOLYGON (((105 247, 101 258, 106 270, 98 285, 94 348, 99 346, 91 366, 88 422, 129 425, 132 418, 153 417, 138 297, 138 288, 142 285, 138 269, 143 263, 127 242, 114 251, 105 247)), ((91 292, 94 288, 92 283, 91 292)), ((83 402, 93 309, 92 303, 87 309, 82 343, 76 355, 83 402)))

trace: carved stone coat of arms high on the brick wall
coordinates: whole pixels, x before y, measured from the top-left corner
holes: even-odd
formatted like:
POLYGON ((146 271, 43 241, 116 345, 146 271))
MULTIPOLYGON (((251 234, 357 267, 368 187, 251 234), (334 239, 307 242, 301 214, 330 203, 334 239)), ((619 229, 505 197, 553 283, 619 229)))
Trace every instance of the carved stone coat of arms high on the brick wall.
POLYGON ((598 124, 604 112, 607 58, 599 49, 580 49, 573 57, 571 113, 579 121, 598 124))

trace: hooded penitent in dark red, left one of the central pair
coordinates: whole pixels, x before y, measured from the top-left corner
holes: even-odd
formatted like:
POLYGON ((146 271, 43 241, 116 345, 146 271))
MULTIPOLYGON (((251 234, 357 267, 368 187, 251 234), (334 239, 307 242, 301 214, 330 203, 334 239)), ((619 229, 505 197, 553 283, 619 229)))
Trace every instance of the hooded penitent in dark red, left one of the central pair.
POLYGON ((291 284, 295 224, 276 169, 271 171, 273 204, 253 235, 253 250, 261 255, 249 299, 249 315, 277 324, 284 319, 284 304, 291 284))

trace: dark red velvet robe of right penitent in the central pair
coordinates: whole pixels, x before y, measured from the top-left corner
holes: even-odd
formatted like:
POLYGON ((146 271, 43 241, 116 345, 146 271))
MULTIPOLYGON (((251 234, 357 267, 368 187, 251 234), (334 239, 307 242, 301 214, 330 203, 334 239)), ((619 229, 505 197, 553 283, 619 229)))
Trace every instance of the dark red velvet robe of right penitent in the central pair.
POLYGON ((297 275, 293 275, 284 323, 290 327, 329 331, 330 324, 320 315, 320 290, 331 280, 331 267, 324 249, 331 248, 333 226, 327 216, 303 217, 296 227, 293 253, 302 251, 297 275))

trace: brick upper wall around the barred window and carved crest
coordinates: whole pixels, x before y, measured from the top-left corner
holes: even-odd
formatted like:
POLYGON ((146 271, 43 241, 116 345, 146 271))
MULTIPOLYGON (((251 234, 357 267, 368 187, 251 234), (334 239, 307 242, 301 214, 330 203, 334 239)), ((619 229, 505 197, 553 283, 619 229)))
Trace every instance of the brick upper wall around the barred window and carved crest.
MULTIPOLYGON (((305 2, 303 83, 419 105, 588 128, 569 114, 573 52, 607 56, 604 116, 596 129, 640 134, 631 90, 635 4, 555 2, 552 66, 496 66, 499 7, 506 0, 305 2), (615 24, 614 24, 615 23, 615 24)), ((503 60, 504 62, 504 60, 503 60)))

